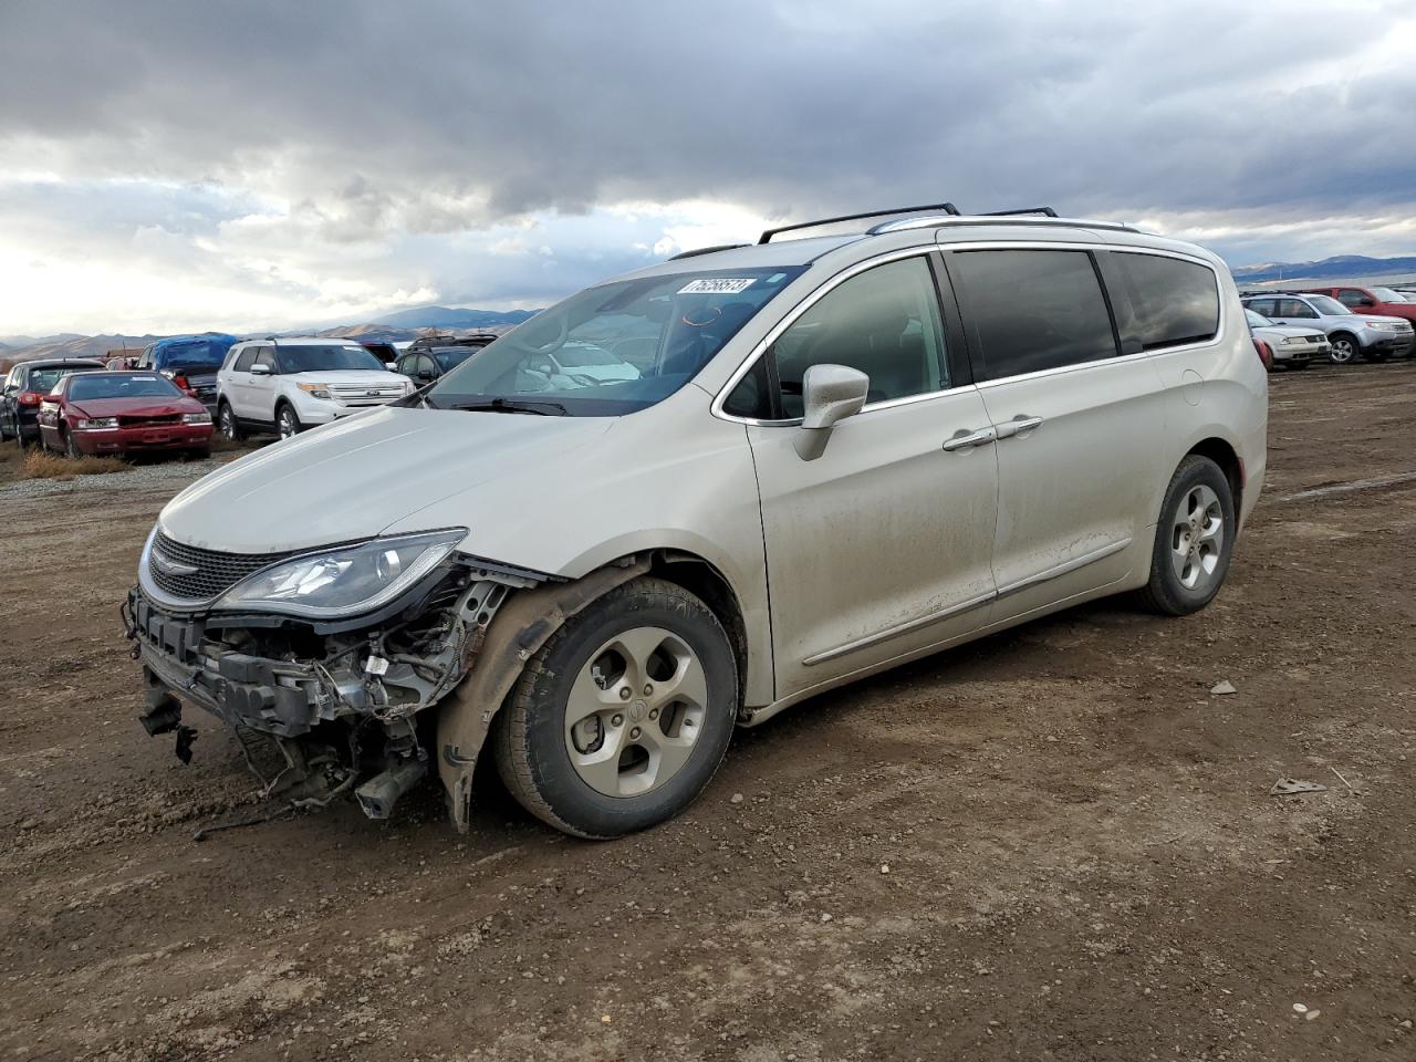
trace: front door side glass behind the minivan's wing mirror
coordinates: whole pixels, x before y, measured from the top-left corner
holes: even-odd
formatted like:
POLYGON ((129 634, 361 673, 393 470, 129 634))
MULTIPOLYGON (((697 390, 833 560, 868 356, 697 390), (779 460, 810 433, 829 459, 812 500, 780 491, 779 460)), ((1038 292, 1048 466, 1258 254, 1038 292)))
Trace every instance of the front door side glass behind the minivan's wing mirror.
POLYGON ((827 292, 767 351, 777 379, 776 412, 753 367, 725 408, 741 416, 801 416, 801 379, 811 365, 845 365, 869 377, 867 402, 926 395, 949 387, 939 295, 925 258, 867 269, 827 292))

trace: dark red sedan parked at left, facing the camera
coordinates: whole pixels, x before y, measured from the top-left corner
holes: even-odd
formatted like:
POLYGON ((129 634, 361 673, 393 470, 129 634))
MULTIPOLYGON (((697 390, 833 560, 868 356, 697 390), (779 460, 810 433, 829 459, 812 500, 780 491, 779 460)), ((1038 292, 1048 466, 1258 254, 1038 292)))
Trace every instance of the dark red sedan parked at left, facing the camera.
POLYGON ((75 372, 40 404, 40 445, 84 453, 211 453, 211 413, 160 372, 75 372))

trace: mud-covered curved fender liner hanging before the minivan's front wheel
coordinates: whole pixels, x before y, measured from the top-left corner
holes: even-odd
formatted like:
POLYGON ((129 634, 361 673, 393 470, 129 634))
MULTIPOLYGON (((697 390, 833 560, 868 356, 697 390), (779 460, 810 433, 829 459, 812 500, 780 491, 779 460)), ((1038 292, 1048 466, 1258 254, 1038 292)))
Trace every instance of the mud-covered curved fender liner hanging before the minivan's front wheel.
POLYGON ((629 558, 575 582, 521 590, 497 610, 467 677, 447 694, 438 712, 438 773, 457 833, 467 833, 477 755, 527 661, 571 616, 649 568, 647 555, 629 558))

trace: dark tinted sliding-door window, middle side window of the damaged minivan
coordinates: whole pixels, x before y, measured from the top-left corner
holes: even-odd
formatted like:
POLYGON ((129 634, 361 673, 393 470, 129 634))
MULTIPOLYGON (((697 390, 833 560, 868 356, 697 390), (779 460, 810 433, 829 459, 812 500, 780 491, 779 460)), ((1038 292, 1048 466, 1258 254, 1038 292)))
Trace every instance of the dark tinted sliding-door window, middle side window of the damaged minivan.
POLYGON ((1116 355, 1112 316, 1085 251, 963 251, 949 268, 969 300, 980 378, 1116 355))

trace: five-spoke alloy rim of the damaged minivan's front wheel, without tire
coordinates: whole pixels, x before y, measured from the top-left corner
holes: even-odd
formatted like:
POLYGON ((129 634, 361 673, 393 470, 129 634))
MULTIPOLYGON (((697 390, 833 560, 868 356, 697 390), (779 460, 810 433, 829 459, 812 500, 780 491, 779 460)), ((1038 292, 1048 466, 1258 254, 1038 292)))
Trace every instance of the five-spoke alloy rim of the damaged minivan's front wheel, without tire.
POLYGON ((708 677, 698 654, 663 627, 634 627, 600 646, 565 704, 565 748, 590 789, 632 797, 658 789, 692 755, 708 677))

